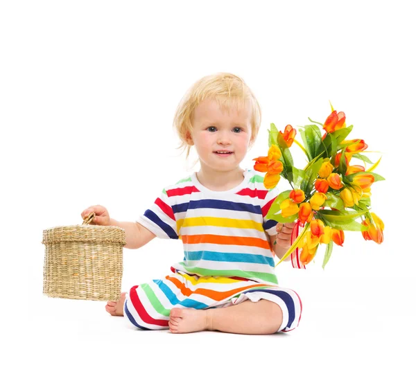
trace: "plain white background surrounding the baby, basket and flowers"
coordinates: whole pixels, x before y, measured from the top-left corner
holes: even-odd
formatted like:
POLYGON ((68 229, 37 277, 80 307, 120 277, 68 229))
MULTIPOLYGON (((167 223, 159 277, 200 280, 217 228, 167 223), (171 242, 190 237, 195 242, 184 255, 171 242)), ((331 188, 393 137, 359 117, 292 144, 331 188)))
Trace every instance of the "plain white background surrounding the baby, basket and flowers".
MULTIPOLYGON (((2 349, 8 382, 286 378, 413 381, 415 33, 408 1, 1 1, 2 349), (382 155, 372 208, 385 240, 347 232, 325 271, 277 267, 300 327, 271 336, 125 327, 103 302, 42 295, 42 230, 102 204, 134 221, 191 168, 172 121, 187 89, 240 75, 267 130, 324 122, 331 101, 382 155), (406 349, 405 348, 406 346, 406 349), (407 346, 409 348, 407 348, 407 346), (150 374, 150 375, 149 375, 150 374)), ((295 152, 295 148, 294 148, 295 152)), ((298 167, 304 157, 295 154, 298 167)), ((179 241, 124 249, 123 290, 170 273, 179 241)))

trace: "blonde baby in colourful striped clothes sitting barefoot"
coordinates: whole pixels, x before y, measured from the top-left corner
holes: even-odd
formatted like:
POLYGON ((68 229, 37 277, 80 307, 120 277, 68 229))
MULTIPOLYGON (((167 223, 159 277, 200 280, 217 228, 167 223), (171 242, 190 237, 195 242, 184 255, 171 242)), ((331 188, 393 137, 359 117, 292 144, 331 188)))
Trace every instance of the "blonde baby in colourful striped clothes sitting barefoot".
MULTIPOLYGON (((216 73, 198 80, 177 107, 181 148, 195 147, 200 170, 166 186, 136 222, 117 222, 103 206, 83 219, 125 229, 127 249, 153 238, 180 239, 184 258, 171 274, 123 292, 105 306, 135 328, 174 333, 218 330, 237 334, 287 332, 299 324, 302 303, 280 287, 274 255, 291 245, 293 224, 267 220, 277 189, 263 174, 240 167, 261 123, 257 99, 243 79, 216 73)), ((289 260, 289 258, 286 258, 289 260)))

